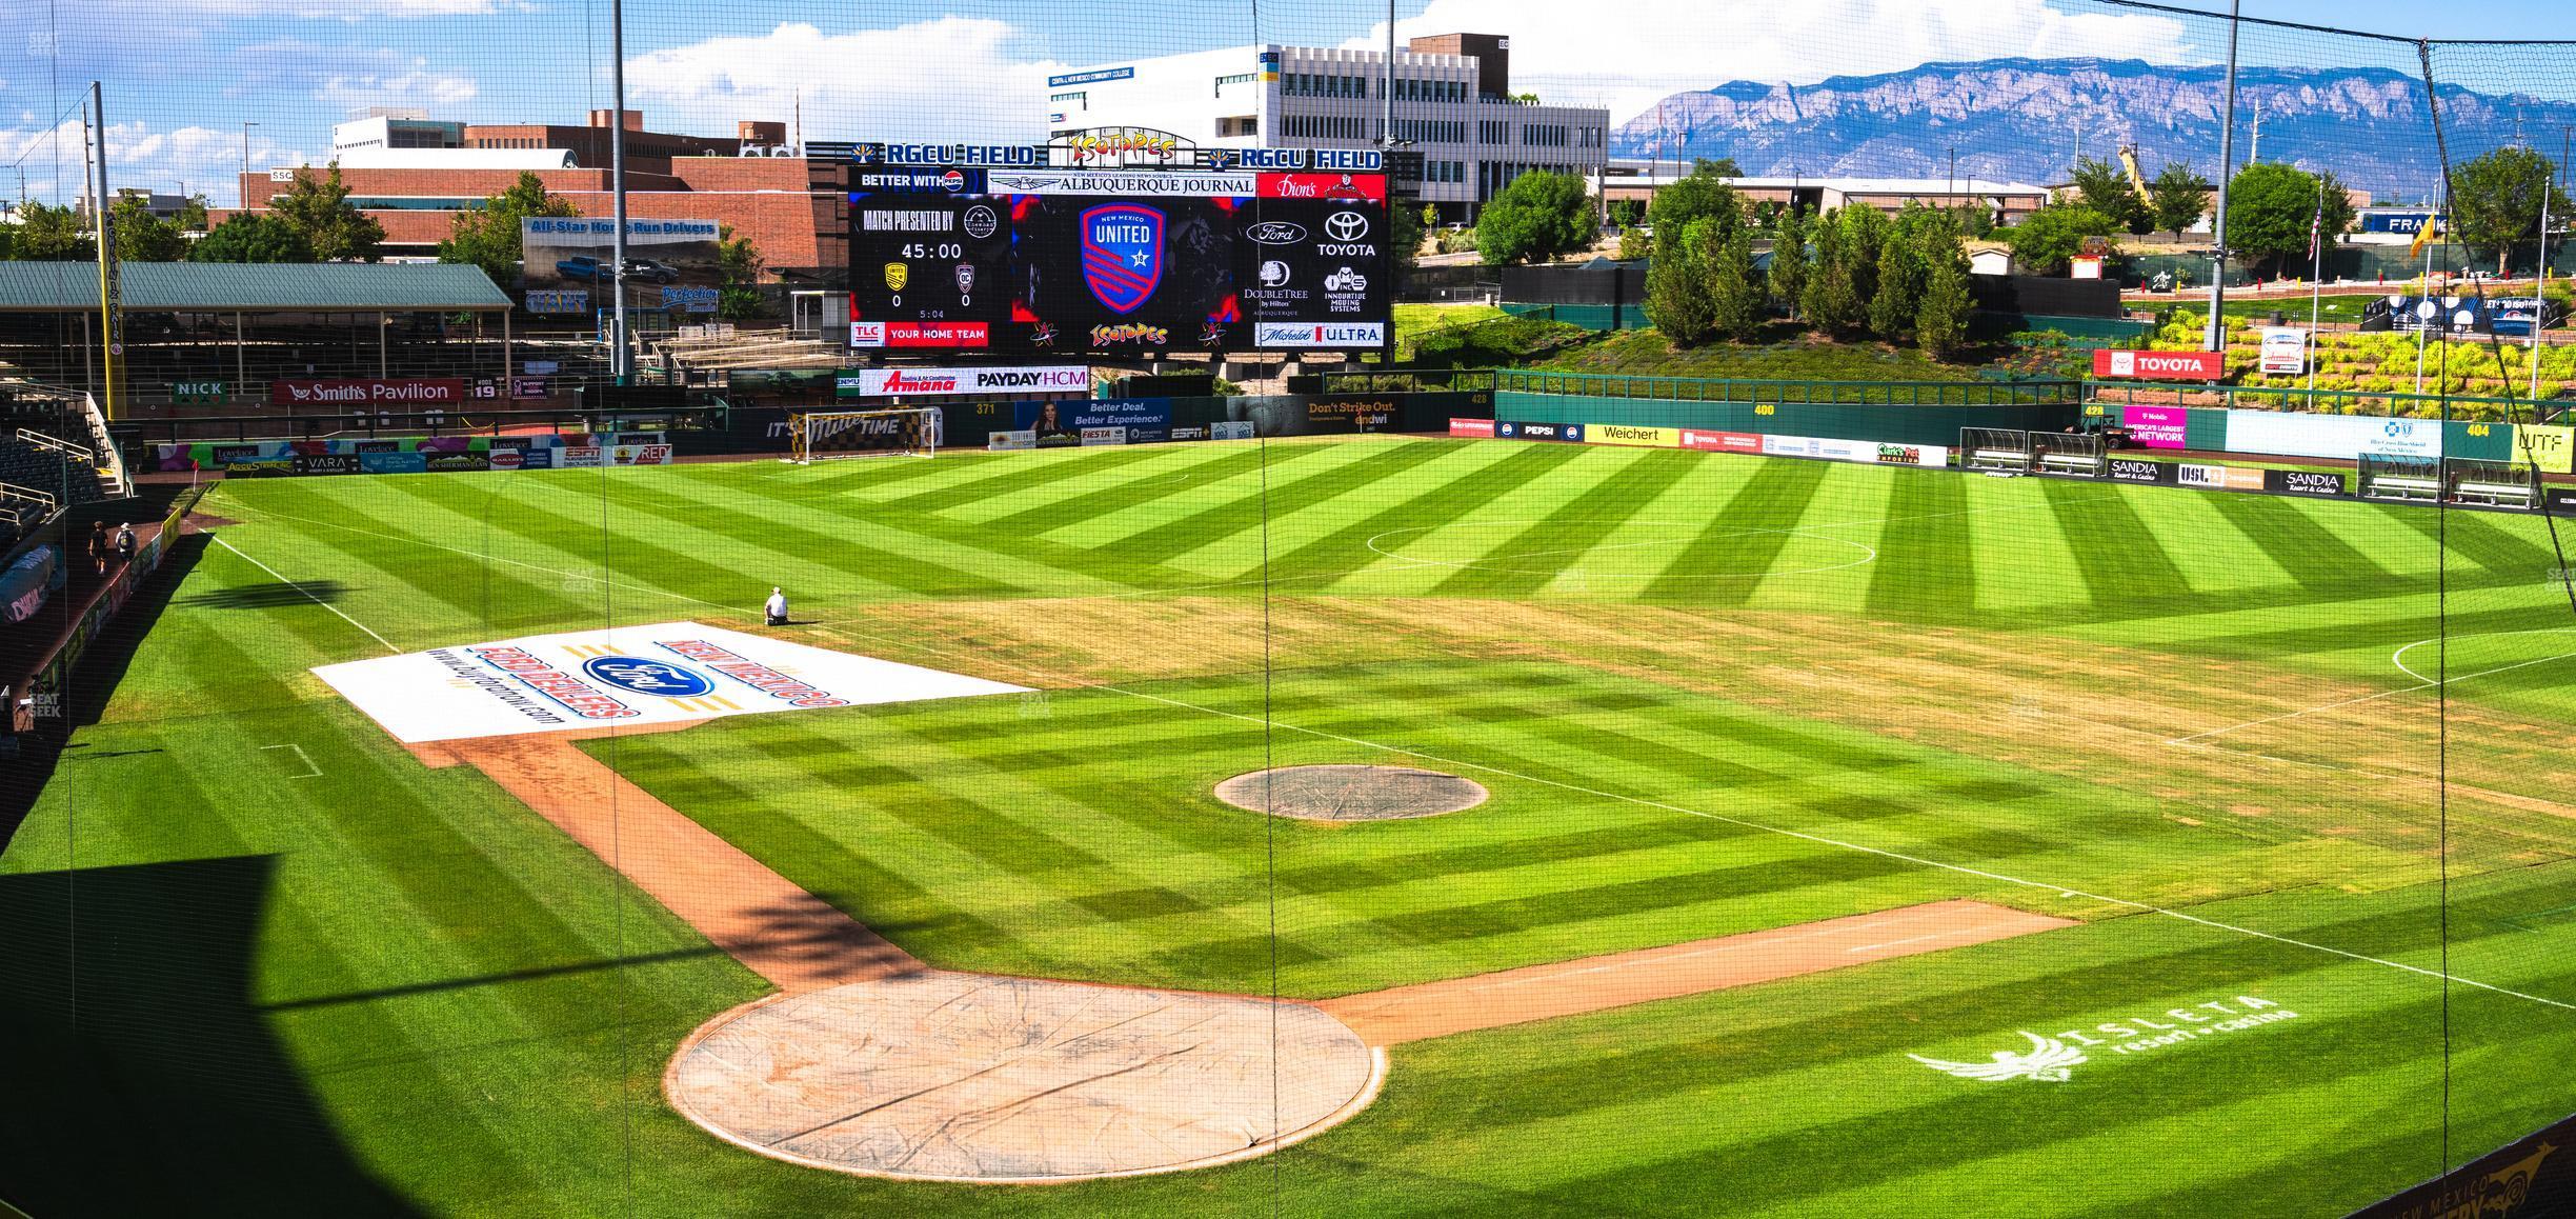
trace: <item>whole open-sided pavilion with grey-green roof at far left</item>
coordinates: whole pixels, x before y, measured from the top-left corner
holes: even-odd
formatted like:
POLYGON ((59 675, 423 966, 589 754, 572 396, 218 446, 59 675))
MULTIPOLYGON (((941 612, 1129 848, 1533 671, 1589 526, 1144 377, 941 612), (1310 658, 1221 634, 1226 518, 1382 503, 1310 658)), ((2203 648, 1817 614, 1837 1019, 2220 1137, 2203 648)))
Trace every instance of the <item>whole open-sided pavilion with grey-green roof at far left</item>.
MULTIPOLYGON (((118 263, 116 418, 273 379, 510 376, 510 296, 453 263, 118 263)), ((98 263, 0 263, 0 366, 108 405, 98 263)))

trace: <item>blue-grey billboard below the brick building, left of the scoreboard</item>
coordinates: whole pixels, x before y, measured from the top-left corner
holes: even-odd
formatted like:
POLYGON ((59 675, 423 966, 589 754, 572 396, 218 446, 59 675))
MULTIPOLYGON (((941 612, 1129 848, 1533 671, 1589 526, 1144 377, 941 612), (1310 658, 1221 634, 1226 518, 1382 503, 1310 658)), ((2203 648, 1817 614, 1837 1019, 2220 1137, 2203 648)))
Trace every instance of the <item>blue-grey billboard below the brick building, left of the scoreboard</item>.
MULTIPOLYGON (((590 312, 616 302, 616 222, 600 216, 520 216, 520 278, 528 312, 590 312), (577 304, 577 307, 574 307, 577 304)), ((724 268, 721 227, 711 219, 626 219, 626 307, 683 314, 716 312, 724 268)))

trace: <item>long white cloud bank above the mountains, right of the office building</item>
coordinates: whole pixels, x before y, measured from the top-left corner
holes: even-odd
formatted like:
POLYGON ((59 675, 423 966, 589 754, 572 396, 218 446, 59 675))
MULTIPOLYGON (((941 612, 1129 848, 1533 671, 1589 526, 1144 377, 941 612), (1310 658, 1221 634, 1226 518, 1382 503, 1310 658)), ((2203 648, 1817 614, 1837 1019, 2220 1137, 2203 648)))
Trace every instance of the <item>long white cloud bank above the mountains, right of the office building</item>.
MULTIPOLYGON (((1615 15, 1564 0, 1430 0, 1399 39, 1489 31, 1512 39, 1512 90, 1607 106, 1610 121, 1728 80, 1808 85, 1945 59, 2076 57, 2197 62, 2182 21, 2061 13, 2045 0, 1633 0, 1615 15)), ((1386 23, 1350 39, 1383 49, 1386 23)))

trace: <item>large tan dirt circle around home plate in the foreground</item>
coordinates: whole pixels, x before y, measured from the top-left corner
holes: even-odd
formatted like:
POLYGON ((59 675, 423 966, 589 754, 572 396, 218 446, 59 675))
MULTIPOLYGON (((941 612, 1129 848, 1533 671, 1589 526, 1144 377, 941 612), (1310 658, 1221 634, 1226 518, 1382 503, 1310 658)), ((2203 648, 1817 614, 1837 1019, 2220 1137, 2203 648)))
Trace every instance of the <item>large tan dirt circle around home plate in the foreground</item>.
POLYGON ((734 1008, 662 1088, 778 1160, 1038 1185, 1267 1155, 1365 1108, 1383 1075, 1309 1005, 925 969, 734 1008))

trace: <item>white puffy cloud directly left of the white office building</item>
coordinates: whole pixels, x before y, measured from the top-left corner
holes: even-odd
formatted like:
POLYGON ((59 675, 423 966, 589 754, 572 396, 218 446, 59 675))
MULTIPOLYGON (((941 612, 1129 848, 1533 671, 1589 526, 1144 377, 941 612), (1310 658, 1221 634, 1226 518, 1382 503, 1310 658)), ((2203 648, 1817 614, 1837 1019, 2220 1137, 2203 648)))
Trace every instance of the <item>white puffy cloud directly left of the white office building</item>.
POLYGON ((1015 59, 1018 39, 1005 21, 953 15, 850 34, 781 23, 631 57, 626 95, 670 131, 786 121, 801 95, 804 129, 824 139, 1036 142, 1046 75, 1061 64, 1015 59))

